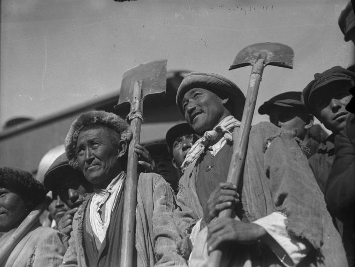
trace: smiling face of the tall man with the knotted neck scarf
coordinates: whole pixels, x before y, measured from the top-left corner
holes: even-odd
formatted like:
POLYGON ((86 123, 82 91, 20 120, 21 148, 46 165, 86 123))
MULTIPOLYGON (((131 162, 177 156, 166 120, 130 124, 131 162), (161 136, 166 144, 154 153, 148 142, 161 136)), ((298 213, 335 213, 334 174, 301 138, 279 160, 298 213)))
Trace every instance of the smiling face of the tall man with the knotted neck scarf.
POLYGON ((182 100, 184 117, 196 132, 204 133, 230 114, 223 105, 227 101, 228 98, 221 99, 209 90, 193 88, 182 100))

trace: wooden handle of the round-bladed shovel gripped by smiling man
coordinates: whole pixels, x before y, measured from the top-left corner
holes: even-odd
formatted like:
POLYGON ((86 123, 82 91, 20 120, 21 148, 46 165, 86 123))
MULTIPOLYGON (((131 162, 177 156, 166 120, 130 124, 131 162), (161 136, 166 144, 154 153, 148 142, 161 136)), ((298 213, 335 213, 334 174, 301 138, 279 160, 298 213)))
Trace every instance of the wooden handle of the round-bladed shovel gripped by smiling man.
MULTIPOLYGON (((259 91, 263 69, 263 59, 259 59, 253 66, 252 72, 250 74, 248 92, 246 94, 240 129, 238 131, 233 131, 233 155, 229 165, 227 182, 234 184, 236 187, 239 186, 239 182, 242 177, 242 171, 244 169, 251 121, 253 120, 256 98, 259 91)), ((218 218, 231 217, 231 215, 232 210, 226 209, 219 213, 218 218)), ((209 256, 208 266, 221 266, 222 254, 223 252, 220 249, 213 250, 209 256)))

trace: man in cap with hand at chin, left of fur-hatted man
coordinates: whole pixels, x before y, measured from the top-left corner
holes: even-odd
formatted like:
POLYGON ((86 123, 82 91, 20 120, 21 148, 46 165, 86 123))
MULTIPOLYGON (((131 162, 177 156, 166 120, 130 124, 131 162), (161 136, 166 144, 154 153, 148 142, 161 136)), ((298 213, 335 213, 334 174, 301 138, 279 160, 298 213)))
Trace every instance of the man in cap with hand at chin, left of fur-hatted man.
POLYGON ((93 186, 81 172, 70 167, 65 153, 49 167, 45 174, 44 186, 52 190, 55 205, 54 219, 60 217, 59 220, 56 219, 57 229, 69 236, 73 229, 74 213, 84 201, 84 195, 93 192, 93 186))

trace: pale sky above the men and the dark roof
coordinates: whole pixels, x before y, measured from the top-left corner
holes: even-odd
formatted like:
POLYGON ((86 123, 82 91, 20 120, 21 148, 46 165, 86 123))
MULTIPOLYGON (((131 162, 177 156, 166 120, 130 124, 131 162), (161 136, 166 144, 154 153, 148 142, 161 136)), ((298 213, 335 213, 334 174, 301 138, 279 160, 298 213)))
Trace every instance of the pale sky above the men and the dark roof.
MULTIPOLYGON (((295 52, 294 69, 268 66, 256 108, 353 62, 337 25, 346 1, 1 1, 0 125, 41 117, 117 92, 126 69, 167 59, 168 70, 214 72, 245 93, 250 67, 228 71, 258 42, 295 52), (261 3, 261 4, 260 4, 261 3)), ((258 115, 253 123, 267 117, 258 115)))

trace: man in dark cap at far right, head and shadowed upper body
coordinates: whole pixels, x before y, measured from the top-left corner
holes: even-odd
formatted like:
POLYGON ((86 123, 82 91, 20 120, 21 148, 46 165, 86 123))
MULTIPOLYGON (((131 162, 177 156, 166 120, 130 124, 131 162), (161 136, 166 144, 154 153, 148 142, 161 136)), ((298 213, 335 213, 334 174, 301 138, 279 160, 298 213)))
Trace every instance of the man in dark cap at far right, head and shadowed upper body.
POLYGON ((354 84, 354 78, 352 71, 335 66, 315 73, 314 80, 302 92, 308 112, 332 132, 309 158, 309 165, 323 193, 335 156, 334 137, 344 128, 349 114, 345 106, 351 98, 349 89, 354 84))

